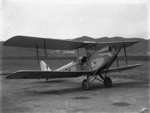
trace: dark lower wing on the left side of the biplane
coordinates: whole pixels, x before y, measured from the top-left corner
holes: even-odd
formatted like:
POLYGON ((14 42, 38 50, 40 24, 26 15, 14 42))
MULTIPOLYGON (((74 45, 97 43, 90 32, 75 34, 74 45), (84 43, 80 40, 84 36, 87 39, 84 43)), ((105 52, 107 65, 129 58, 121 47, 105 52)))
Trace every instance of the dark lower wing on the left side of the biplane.
POLYGON ((91 74, 92 72, 60 72, 60 71, 18 71, 8 75, 7 79, 52 79, 52 78, 73 78, 82 75, 91 74))

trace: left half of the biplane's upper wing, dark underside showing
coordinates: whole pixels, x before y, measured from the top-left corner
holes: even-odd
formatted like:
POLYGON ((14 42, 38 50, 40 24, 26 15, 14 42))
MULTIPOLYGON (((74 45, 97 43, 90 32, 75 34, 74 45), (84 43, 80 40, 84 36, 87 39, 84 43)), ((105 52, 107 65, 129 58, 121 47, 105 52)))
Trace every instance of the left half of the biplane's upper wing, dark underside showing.
POLYGON ((50 38, 38 38, 30 36, 14 36, 4 42, 4 46, 26 47, 26 48, 46 48, 56 50, 73 50, 82 46, 81 42, 67 40, 57 40, 50 38))

